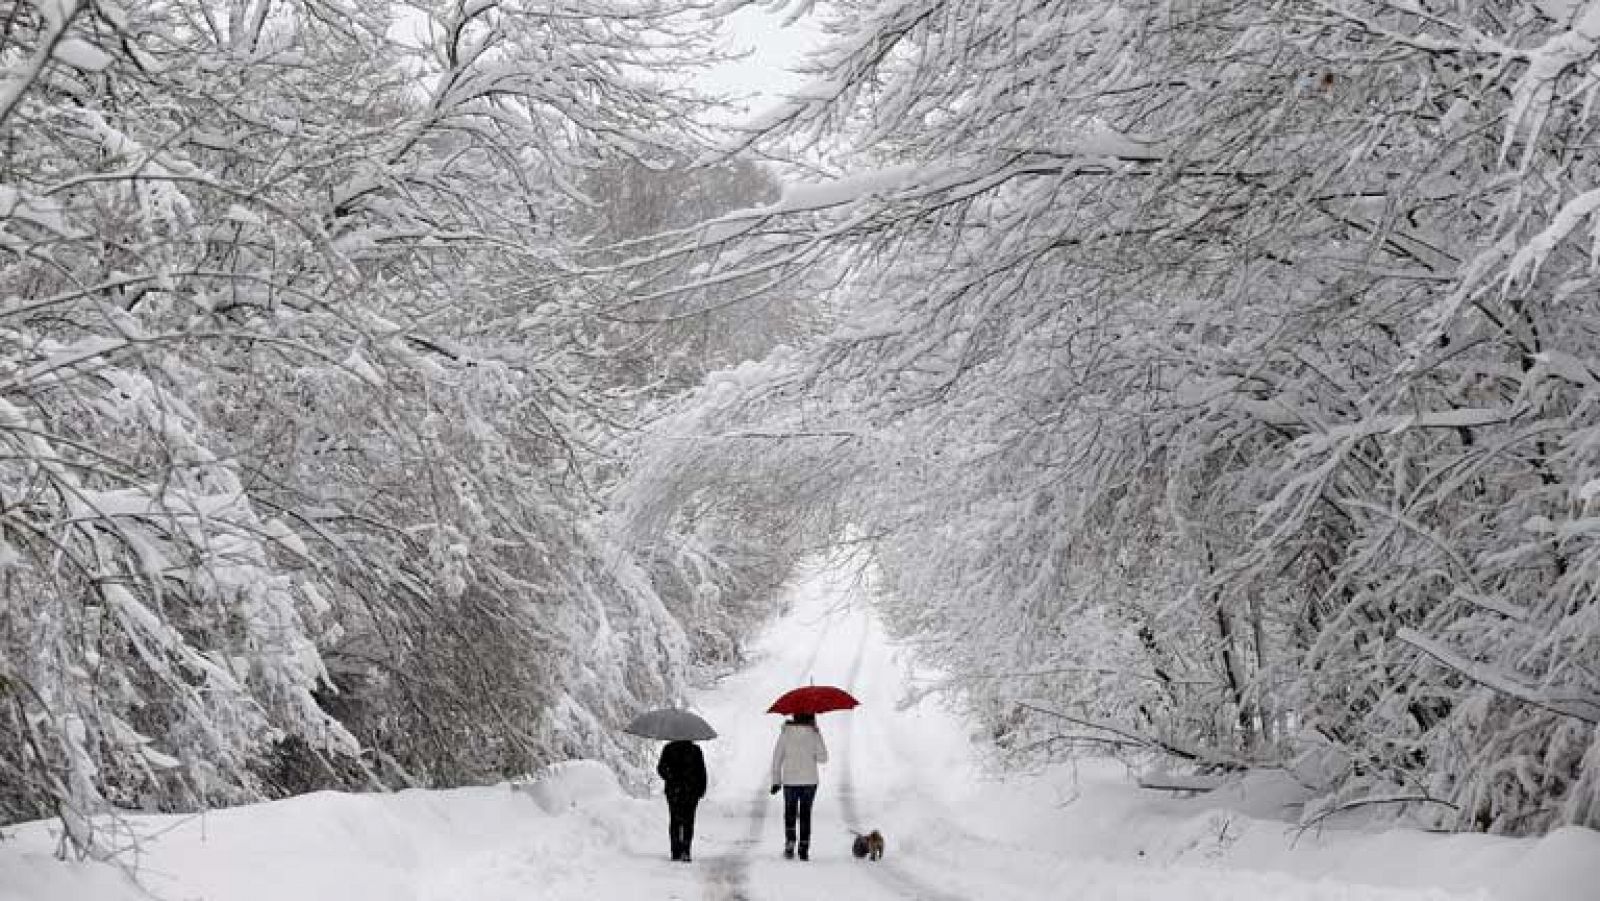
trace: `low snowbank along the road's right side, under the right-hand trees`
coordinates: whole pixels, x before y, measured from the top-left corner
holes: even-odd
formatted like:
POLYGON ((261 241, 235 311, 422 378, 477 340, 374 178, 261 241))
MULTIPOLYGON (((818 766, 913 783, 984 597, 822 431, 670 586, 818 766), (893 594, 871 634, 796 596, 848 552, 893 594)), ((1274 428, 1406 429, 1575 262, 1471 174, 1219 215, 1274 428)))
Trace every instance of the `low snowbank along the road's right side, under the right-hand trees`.
POLYGON ((998 781, 989 794, 982 832, 1038 835, 1062 855, 1090 859, 1442 888, 1494 901, 1600 898, 1600 832, 1562 829, 1530 840, 1358 816, 1301 829, 1294 815, 1304 792, 1274 773, 1176 797, 1138 787, 1118 763, 1088 760, 998 781))

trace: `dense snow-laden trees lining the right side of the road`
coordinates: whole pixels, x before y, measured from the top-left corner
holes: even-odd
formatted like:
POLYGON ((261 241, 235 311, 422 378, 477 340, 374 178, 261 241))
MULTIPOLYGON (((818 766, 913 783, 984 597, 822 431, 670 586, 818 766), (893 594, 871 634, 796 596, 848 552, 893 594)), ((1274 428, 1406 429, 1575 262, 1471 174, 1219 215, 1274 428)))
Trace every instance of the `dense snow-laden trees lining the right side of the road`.
MULTIPOLYGON (((789 392, 854 435, 826 459, 896 621, 1008 746, 1298 763, 1307 816, 1600 826, 1600 13, 834 16, 730 150, 846 174, 642 253, 840 280, 830 339, 704 430, 792 424, 789 392)), ((762 461, 821 472, 814 440, 762 461)))

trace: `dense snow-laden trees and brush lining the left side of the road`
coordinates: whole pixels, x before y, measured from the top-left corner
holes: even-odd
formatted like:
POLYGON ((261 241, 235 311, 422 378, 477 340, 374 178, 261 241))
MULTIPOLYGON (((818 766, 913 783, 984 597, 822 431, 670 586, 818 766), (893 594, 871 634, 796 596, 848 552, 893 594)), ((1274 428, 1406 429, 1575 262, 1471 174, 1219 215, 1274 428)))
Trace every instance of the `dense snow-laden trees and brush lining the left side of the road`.
POLYGON ((688 6, 0 3, 0 821, 642 751, 734 637, 608 538, 563 232, 688 6))

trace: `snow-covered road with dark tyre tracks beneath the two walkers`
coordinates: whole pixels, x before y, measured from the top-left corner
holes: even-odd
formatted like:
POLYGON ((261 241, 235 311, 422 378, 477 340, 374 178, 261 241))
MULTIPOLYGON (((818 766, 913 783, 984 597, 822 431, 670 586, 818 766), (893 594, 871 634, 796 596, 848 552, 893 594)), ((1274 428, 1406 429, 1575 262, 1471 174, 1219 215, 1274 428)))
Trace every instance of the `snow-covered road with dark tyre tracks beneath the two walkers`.
MULTIPOLYGON (((1010 831, 1016 797, 990 797, 965 725, 931 699, 901 707, 914 688, 909 659, 883 634, 861 586, 818 571, 790 594, 790 610, 757 645, 757 663, 699 698, 723 730, 706 746, 712 789, 702 805, 698 895, 709 901, 1421 901, 1438 890, 1398 890, 1198 866, 1141 866, 1064 858, 1048 835, 1010 831), (758 719, 795 685, 834 683, 861 699, 819 719, 832 751, 814 811, 810 863, 786 861, 782 805, 766 792, 778 717, 758 719), (771 803, 770 803, 771 800, 771 803), (880 829, 880 863, 850 855, 851 831, 880 829)), ((1050 807, 1054 799, 1035 799, 1050 807)))

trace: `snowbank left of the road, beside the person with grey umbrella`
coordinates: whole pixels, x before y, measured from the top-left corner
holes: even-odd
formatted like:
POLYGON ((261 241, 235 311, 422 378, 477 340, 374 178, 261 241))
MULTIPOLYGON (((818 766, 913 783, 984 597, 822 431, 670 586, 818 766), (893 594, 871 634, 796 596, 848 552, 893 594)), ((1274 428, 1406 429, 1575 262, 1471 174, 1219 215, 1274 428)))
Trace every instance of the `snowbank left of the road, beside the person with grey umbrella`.
MULTIPOLYGON (((614 848, 664 834, 659 819, 603 763, 574 760, 526 784, 131 816, 141 851, 126 875, 171 901, 526 901, 530 887, 552 899, 630 898, 659 882, 619 869, 614 848)), ((54 859, 53 823, 8 834, 0 901, 149 901, 114 867, 54 859)))

